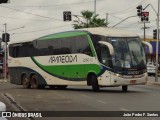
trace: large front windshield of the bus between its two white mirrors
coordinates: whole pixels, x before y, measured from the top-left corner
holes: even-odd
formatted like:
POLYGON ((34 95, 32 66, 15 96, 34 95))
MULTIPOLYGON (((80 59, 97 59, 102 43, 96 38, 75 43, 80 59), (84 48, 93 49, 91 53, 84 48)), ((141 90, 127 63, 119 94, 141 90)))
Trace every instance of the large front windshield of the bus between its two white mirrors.
POLYGON ((120 68, 142 68, 146 65, 145 52, 138 37, 108 38, 113 45, 115 54, 112 58, 113 66, 120 68))

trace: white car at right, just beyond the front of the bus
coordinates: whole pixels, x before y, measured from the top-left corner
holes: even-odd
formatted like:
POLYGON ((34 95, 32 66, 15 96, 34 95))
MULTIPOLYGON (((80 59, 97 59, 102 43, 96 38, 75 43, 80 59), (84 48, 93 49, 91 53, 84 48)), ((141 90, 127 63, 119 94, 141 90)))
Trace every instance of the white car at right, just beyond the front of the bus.
POLYGON ((155 75, 156 71, 156 66, 153 62, 148 62, 147 63, 147 72, 148 75, 155 75))

